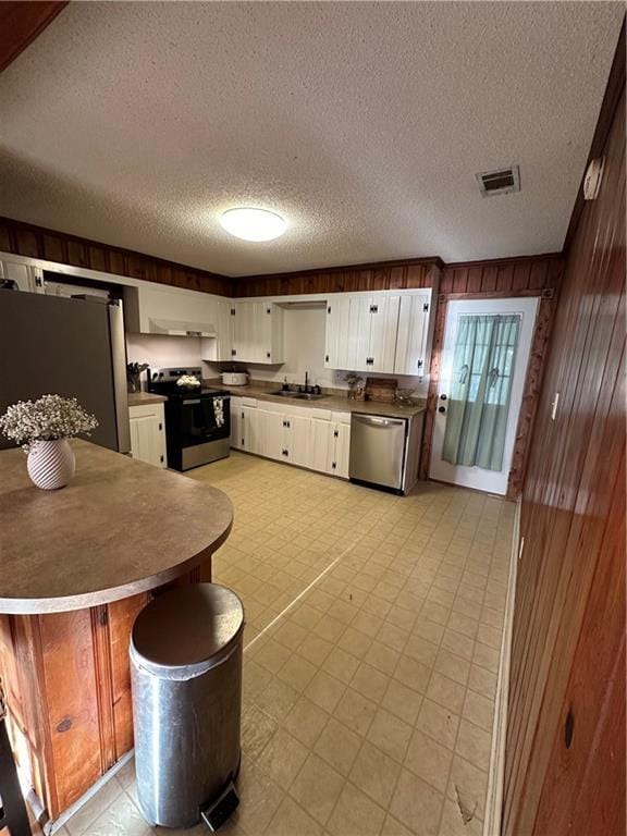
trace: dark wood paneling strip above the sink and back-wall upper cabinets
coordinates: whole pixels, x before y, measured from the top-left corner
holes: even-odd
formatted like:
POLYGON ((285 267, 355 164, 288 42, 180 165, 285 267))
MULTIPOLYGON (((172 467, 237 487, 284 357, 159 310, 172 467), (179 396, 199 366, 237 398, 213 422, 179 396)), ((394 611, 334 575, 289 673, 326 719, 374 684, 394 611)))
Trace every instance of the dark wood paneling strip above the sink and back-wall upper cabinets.
POLYGON ((249 275, 233 281, 234 295, 291 296, 300 293, 355 293, 433 287, 443 267, 439 258, 381 261, 272 275, 249 275))

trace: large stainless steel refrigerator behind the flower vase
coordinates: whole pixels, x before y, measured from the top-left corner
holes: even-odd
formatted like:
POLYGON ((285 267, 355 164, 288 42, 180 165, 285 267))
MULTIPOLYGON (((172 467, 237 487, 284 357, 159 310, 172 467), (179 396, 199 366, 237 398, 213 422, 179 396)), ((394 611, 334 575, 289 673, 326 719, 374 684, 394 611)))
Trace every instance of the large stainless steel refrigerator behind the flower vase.
MULTIPOLYGON (((131 450, 119 302, 0 290, 0 415, 17 401, 76 397, 98 419, 89 441, 131 450)), ((0 434, 0 447, 12 446, 0 434)))

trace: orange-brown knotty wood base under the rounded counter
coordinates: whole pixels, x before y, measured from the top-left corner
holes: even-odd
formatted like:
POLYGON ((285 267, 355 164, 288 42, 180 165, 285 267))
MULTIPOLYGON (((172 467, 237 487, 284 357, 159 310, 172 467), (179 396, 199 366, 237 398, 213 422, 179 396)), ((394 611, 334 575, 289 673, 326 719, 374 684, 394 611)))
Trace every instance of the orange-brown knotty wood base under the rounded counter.
MULTIPOLYGON (((201 580, 210 561, 174 582, 201 580)), ((13 751, 49 822, 133 748, 131 629, 171 586, 86 610, 0 615, 13 751)))

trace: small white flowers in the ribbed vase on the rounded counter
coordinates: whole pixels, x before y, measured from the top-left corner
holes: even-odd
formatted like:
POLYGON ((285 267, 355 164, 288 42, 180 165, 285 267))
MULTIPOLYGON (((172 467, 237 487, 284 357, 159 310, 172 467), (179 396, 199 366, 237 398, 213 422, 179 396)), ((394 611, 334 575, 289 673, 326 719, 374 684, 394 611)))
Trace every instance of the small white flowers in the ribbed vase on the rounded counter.
POLYGON ((87 435, 98 427, 75 397, 44 395, 37 401, 20 401, 0 416, 0 430, 25 451, 37 441, 71 439, 79 432, 87 435))

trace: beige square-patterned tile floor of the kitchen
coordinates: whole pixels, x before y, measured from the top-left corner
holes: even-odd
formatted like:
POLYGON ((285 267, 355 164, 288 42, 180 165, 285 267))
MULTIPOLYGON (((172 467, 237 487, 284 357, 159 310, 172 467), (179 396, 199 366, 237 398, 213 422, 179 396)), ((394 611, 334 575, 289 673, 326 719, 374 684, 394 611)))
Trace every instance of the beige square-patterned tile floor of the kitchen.
MULTIPOLYGON (((480 834, 515 506, 241 453, 189 476, 233 501, 214 579, 247 619, 242 802, 221 832, 480 834)), ((132 763, 65 826, 150 833, 132 763)))

